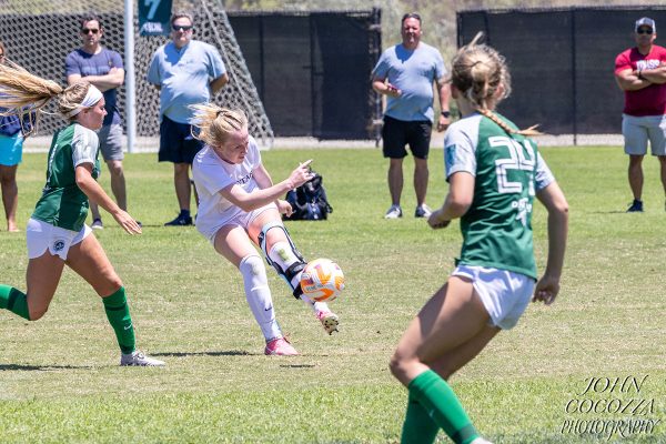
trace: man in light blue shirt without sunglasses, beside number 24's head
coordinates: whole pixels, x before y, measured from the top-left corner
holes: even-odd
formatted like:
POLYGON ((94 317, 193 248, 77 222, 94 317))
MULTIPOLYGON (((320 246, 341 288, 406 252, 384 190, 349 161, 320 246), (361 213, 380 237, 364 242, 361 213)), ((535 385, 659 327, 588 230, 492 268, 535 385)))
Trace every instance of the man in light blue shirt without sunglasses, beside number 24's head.
POLYGON ((407 155, 407 144, 414 155, 414 216, 428 218, 431 210, 425 204, 425 194, 428 179, 427 154, 434 121, 433 82, 436 84, 442 111, 437 119, 437 131, 444 131, 451 123, 451 89, 445 82, 447 71, 442 54, 421 41, 418 14, 403 16, 401 34, 402 43, 382 53, 372 79, 372 88, 387 97, 382 140, 384 158, 390 159, 389 191, 392 205, 385 218, 402 218, 402 164, 407 155))

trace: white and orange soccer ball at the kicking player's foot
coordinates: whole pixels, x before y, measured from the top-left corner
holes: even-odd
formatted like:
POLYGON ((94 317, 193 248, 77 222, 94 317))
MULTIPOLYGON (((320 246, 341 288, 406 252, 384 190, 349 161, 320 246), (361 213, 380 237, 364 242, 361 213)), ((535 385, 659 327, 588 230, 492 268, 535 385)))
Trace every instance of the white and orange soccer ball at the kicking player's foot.
POLYGON ((316 302, 333 301, 344 289, 344 274, 330 259, 315 259, 301 275, 303 294, 316 302))

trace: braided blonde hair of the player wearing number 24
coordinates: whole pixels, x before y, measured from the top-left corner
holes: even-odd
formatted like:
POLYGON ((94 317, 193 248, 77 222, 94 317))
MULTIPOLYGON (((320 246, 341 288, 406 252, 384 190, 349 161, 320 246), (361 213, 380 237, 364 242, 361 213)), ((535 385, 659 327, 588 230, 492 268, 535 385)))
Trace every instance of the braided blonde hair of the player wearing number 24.
POLYGON ((461 91, 483 115, 497 123, 509 134, 539 135, 536 125, 515 130, 504 122, 493 109, 511 94, 511 74, 506 60, 495 49, 480 44, 478 32, 470 44, 462 47, 452 62, 452 84, 461 91))

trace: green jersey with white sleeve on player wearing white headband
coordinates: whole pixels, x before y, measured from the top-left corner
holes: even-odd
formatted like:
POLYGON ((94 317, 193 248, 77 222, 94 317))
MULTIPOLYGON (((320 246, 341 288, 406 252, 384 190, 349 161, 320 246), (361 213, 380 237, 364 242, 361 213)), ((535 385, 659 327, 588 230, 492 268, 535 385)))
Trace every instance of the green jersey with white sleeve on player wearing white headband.
POLYGON ((88 215, 88 196, 77 185, 74 170, 92 163, 92 178, 100 174, 99 139, 94 131, 72 123, 53 135, 49 150, 47 184, 32 218, 62 229, 80 231, 88 215))

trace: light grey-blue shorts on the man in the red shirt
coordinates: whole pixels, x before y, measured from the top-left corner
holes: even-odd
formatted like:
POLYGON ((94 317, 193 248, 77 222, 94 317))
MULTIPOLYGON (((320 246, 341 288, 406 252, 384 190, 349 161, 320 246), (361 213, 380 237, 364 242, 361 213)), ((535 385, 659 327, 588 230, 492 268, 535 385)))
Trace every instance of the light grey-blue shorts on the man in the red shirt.
POLYGON ((622 134, 627 154, 645 155, 649 140, 653 155, 666 155, 666 115, 622 114, 622 134))

